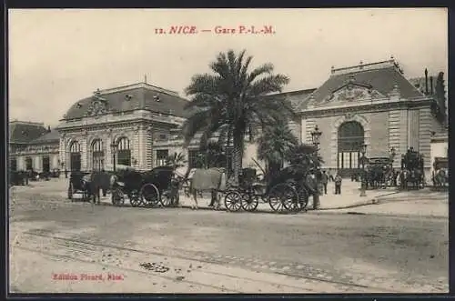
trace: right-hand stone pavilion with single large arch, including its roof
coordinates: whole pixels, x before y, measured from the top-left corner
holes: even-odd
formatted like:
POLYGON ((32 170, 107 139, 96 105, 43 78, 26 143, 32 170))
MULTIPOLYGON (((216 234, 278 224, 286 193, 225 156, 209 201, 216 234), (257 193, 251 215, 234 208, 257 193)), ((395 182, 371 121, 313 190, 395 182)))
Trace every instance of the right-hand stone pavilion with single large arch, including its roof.
POLYGON ((390 156, 394 148, 398 156, 393 166, 399 168, 400 155, 413 147, 426 158, 424 167, 429 177, 430 133, 441 126, 434 105, 433 95, 425 95, 413 86, 393 59, 333 68, 323 85, 310 95, 302 94, 297 112, 300 129, 295 131, 302 143, 311 144, 311 132, 318 125, 322 132, 319 155, 325 161, 324 167, 338 169, 340 126, 355 122, 363 129, 363 138, 358 140, 367 145, 367 157, 390 156))

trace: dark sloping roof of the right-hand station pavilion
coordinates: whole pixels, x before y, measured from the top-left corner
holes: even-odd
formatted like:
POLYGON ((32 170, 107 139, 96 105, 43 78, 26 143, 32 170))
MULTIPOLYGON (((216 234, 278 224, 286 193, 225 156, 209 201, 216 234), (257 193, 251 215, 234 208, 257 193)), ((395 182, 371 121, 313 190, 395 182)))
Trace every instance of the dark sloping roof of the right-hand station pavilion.
MULTIPOLYGON (((353 80, 356 84, 369 85, 372 89, 378 91, 382 95, 389 95, 393 90, 394 85, 398 86, 399 93, 402 98, 410 99, 423 96, 420 91, 410 83, 395 66, 379 66, 378 68, 368 68, 365 70, 356 69, 353 72, 334 74, 329 79, 319 86, 312 94, 315 104, 321 103, 331 93, 347 85, 349 80, 353 80)), ((307 108, 307 102, 303 102, 299 109, 307 108)))

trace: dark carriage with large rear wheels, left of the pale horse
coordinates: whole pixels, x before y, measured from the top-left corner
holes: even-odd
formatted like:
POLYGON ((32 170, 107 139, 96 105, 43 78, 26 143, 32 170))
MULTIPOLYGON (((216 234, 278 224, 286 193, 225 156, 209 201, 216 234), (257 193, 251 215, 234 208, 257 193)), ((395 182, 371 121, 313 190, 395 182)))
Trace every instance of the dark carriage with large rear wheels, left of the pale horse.
POLYGON ((172 166, 159 166, 146 172, 132 168, 120 170, 111 182, 112 203, 123 205, 127 196, 135 207, 170 206, 173 176, 172 166))

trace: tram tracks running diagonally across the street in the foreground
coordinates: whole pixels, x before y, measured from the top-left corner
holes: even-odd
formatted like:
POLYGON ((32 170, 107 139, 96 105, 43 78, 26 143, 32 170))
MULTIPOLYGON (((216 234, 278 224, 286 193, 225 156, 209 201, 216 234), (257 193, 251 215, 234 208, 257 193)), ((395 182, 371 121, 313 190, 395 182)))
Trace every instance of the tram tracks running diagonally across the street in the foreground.
MULTIPOLYGON (((43 234, 43 233, 39 233, 39 232, 32 232, 32 231, 25 231, 25 232, 23 232, 23 236, 24 235, 25 236, 43 237, 43 238, 50 239, 54 243, 54 246, 58 246, 59 248, 66 248, 66 249, 72 251, 74 253, 74 256, 58 255, 55 252, 53 253, 50 251, 43 251, 41 248, 38 248, 39 250, 37 248, 28 248, 30 251, 40 252, 40 253, 48 255, 48 256, 53 256, 53 255, 60 256, 62 258, 66 258, 67 260, 76 260, 76 261, 81 261, 81 262, 86 262, 86 263, 91 263, 91 264, 94 264, 93 255, 96 254, 96 252, 102 252, 101 248, 105 248, 105 249, 108 249, 111 253, 119 252, 120 255, 121 255, 121 252, 132 252, 132 253, 136 253, 136 255, 138 255, 138 256, 167 256, 167 257, 175 257, 175 258, 183 259, 183 260, 187 260, 187 261, 197 261, 200 263, 211 264, 211 265, 214 265, 214 264, 222 265, 222 263, 217 262, 217 260, 207 259, 207 258, 204 258, 203 256, 196 256, 196 257, 190 256, 190 255, 182 256, 181 253, 185 253, 187 250, 181 250, 178 248, 165 247, 165 249, 167 249, 169 251, 173 251, 173 252, 171 252, 173 254, 169 254, 169 253, 164 253, 164 252, 141 250, 141 249, 137 249, 135 247, 115 246, 115 245, 110 245, 110 244, 105 244, 105 243, 100 243, 100 242, 93 242, 93 241, 89 241, 89 240, 87 241, 87 240, 83 240, 80 238, 53 236, 53 235, 43 234), (180 254, 178 254, 178 253, 180 253, 180 254)), ((30 243, 33 241, 33 239, 27 239, 27 241, 28 241, 28 243, 30 243)), ((25 246, 14 246, 14 247, 26 249, 25 246)), ((131 259, 131 258, 129 258, 129 259, 131 259)), ((112 266, 106 262, 98 263, 98 264, 105 265, 105 266, 112 266)), ((138 270, 135 268, 127 268, 125 266, 123 266, 123 267, 122 266, 112 266, 112 267, 124 269, 125 271, 128 271, 128 272, 138 272, 138 273, 148 274, 147 272, 144 272, 144 271, 141 271, 141 270, 138 270)), ((239 277, 239 276, 232 276, 232 275, 228 275, 225 273, 219 273, 219 272, 215 272, 215 271, 204 270, 204 273, 211 274, 211 275, 217 275, 217 276, 227 276, 229 278, 250 280, 250 281, 259 282, 259 283, 263 283, 263 284, 267 284, 267 285, 275 285, 275 283, 273 283, 273 282, 239 277)), ((313 284, 317 284, 317 283, 324 284, 325 283, 327 285, 334 286, 334 288, 337 289, 337 291, 339 291, 339 292, 355 292, 355 293, 360 293, 360 292, 398 293, 398 292, 402 292, 402 290, 393 290, 390 288, 379 287, 379 286, 366 286, 366 285, 355 284, 355 283, 351 283, 351 282, 344 282, 344 281, 339 281, 339 280, 334 280, 334 279, 329 280, 329 279, 320 278, 318 276, 302 276, 301 274, 298 275, 298 274, 294 274, 294 273, 286 272, 286 271, 273 271, 271 273, 278 274, 281 276, 289 276, 294 279, 302 279, 306 283, 313 283, 313 284)), ((168 276, 163 276, 163 275, 157 275, 157 276, 163 277, 168 280, 174 280, 173 277, 168 277, 168 276)), ((189 283, 190 282, 188 282, 188 284, 189 283)), ((194 283, 194 285, 207 286, 203 283, 196 283, 196 282, 194 283)), ((283 285, 283 286, 288 286, 289 288, 294 288, 294 289, 302 288, 302 287, 298 287, 298 286, 289 286, 289 285, 283 285)), ((212 287, 212 288, 216 288, 216 289, 223 288, 220 286, 209 286, 209 285, 208 285, 208 287, 212 287)), ((308 288, 305 288, 305 290, 311 291, 311 289, 308 289, 308 288)))

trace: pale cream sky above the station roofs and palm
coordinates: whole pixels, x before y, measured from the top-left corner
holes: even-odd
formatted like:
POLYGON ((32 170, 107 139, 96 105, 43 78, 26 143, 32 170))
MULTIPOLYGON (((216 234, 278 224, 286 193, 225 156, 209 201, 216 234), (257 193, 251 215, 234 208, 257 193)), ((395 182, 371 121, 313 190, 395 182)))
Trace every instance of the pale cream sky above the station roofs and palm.
POLYGON ((186 96, 191 76, 209 72, 209 63, 228 49, 247 50, 252 67, 272 63, 290 78, 285 91, 318 87, 332 65, 390 55, 406 77, 422 76, 425 68, 447 76, 448 69, 444 8, 28 9, 8 15, 9 118, 45 125, 57 125, 70 105, 97 88, 143 82, 145 75, 147 83, 186 96), (170 35, 173 25, 199 32, 170 35), (271 25, 274 34, 213 32, 240 25, 271 25))

